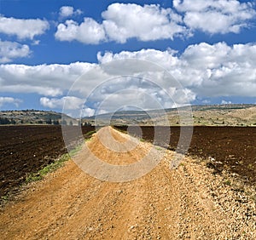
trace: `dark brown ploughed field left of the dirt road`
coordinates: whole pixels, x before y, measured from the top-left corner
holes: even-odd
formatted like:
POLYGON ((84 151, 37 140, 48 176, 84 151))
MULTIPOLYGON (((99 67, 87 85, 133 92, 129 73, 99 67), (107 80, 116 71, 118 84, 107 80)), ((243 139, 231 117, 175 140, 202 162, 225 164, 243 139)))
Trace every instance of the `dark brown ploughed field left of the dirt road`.
MULTIPOLYGON (((70 127, 70 133, 75 133, 70 127)), ((83 127, 83 133, 94 127, 83 127)), ((67 150, 61 126, 0 127, 0 197, 20 186, 26 175, 37 172, 67 150)))

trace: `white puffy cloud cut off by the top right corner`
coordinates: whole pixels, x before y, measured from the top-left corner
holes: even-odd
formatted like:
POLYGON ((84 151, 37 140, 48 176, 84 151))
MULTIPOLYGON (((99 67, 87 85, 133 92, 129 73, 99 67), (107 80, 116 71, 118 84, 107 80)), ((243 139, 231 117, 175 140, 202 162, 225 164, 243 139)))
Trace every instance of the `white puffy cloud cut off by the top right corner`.
POLYGON ((184 13, 186 26, 211 34, 238 33, 256 14, 253 3, 237 0, 173 0, 173 6, 184 13))

